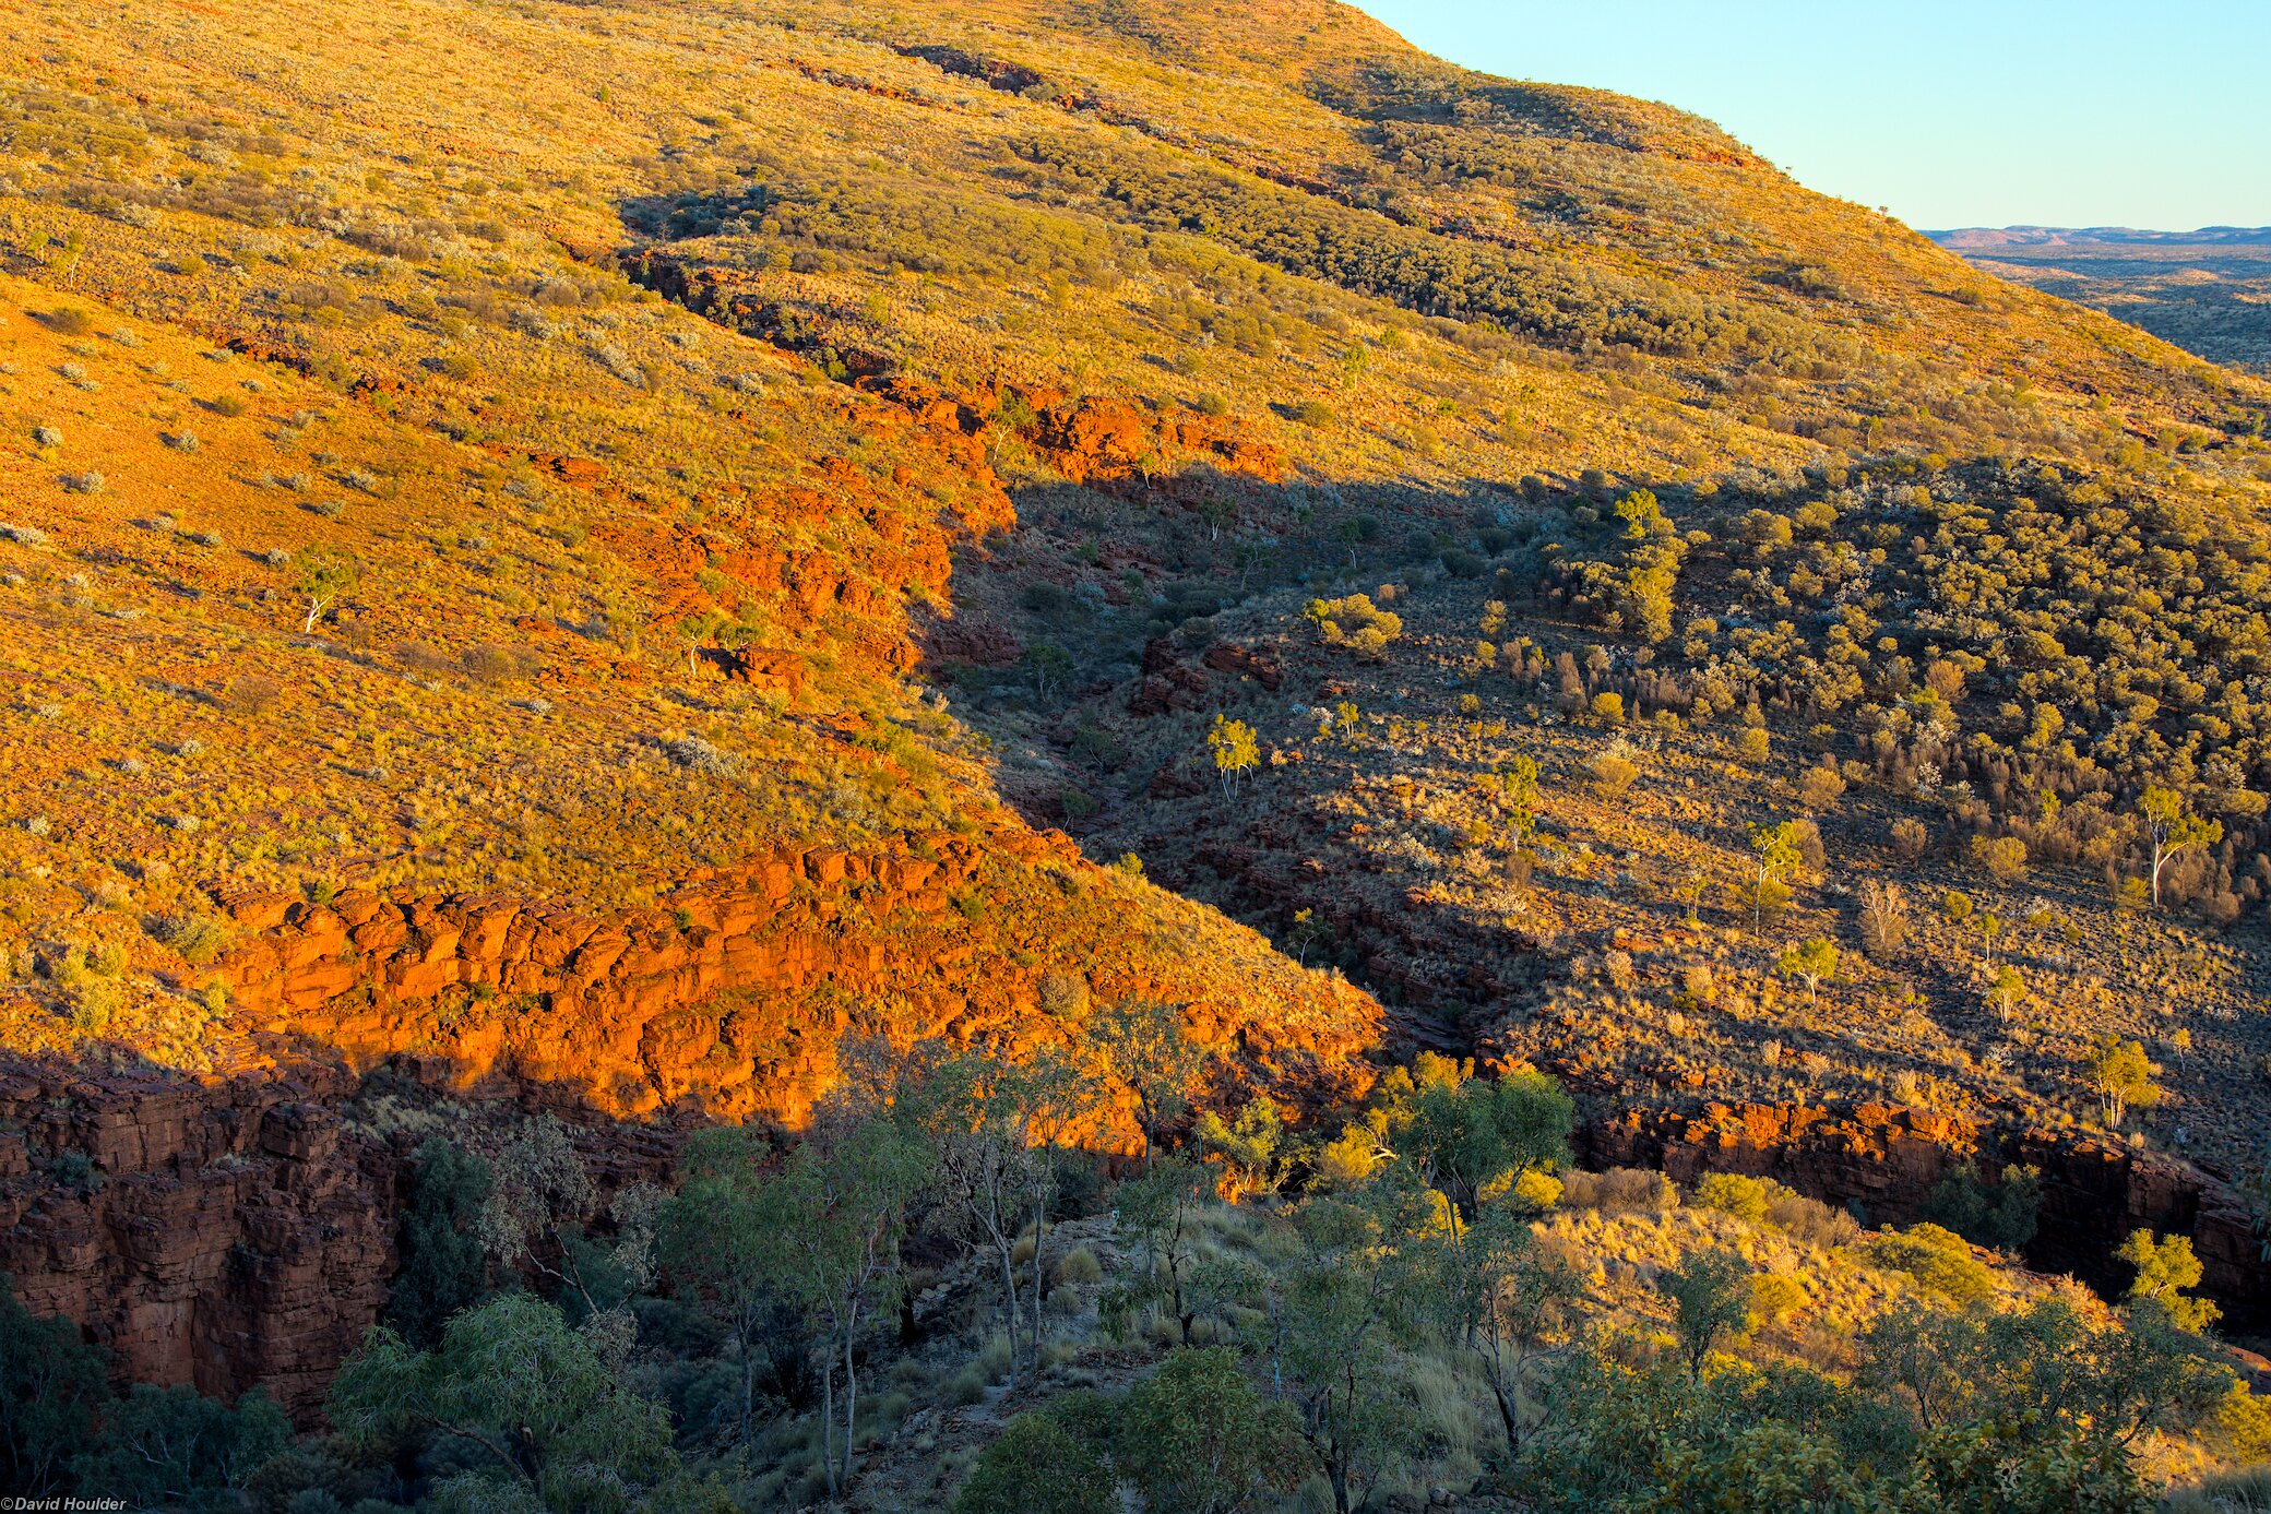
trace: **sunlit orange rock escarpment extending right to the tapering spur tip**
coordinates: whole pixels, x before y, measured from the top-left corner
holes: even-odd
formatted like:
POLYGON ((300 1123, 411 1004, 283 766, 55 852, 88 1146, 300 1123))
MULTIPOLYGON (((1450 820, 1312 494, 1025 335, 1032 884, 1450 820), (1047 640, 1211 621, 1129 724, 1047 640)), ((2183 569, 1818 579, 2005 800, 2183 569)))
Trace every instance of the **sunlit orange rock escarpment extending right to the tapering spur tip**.
POLYGON ((236 894, 229 912, 259 935, 223 978, 236 1024, 275 1055, 347 1069, 411 1055, 436 1078, 506 1078, 618 1119, 797 1128, 847 1033, 1017 1051, 1083 1003, 1131 996, 1188 1006, 1190 1035, 1238 1078, 1301 1099, 1363 1085, 1369 999, 1190 906, 1147 931, 1142 888, 1004 826, 872 853, 783 849, 625 915, 236 894), (1181 956, 1181 931, 1247 951, 1181 956))

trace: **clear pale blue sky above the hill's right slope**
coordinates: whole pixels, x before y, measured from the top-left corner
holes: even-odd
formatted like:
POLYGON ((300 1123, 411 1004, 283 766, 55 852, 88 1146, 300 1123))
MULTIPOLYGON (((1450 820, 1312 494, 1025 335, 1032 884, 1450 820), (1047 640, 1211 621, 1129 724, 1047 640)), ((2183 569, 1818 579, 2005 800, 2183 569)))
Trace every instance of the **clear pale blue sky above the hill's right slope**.
POLYGON ((2271 225, 2271 0, 1356 0, 1515 79, 1646 95, 1912 227, 2271 225))

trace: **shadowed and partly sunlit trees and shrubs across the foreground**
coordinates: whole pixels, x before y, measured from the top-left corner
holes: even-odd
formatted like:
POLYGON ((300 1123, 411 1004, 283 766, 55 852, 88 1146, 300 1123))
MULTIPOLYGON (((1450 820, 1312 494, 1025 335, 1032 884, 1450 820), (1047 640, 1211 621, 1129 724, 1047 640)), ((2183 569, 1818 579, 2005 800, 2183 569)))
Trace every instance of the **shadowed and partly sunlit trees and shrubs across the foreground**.
MULTIPOLYGON (((1683 1205, 1572 1174, 1574 1108, 1535 1074, 1422 1058, 1338 1135, 1258 1103, 1117 1176, 1042 1135, 1108 1085, 1172 1119, 1192 1069, 1156 1006, 1024 1065, 881 1058, 786 1151, 702 1135, 674 1192, 618 1189, 597 1233, 550 1117, 488 1155, 434 1137, 327 1432, 291 1439, 259 1396, 109 1401, 68 1323, 0 1298, 9 1487, 357 1514, 854 1487, 1088 1512, 1126 1487, 1347 1514, 1456 1475, 1535 1509, 2048 1514, 2151 1507, 2155 1460, 2271 1437, 2182 1239, 2137 1233, 2107 1312, 1937 1223, 1864 1233, 1726 1176, 1683 1205)), ((2010 1198, 1960 1176, 1937 1203, 2008 1239, 2010 1198)))

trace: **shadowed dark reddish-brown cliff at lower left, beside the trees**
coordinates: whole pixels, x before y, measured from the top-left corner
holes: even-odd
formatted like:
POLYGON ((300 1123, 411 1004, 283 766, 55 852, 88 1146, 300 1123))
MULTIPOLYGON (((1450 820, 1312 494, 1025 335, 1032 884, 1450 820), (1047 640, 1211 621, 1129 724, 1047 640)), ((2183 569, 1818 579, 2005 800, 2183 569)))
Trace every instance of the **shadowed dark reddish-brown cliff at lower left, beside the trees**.
POLYGON ((0 1271, 123 1378, 304 1416, 393 1271, 402 1158, 320 1067, 238 1078, 0 1069, 0 1271))

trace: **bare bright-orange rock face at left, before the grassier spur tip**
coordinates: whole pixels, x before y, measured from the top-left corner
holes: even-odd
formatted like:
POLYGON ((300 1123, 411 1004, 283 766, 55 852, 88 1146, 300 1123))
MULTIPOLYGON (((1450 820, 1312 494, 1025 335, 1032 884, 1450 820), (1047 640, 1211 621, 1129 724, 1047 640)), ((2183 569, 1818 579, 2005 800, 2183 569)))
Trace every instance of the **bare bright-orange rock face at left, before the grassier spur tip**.
MULTIPOLYGON (((234 894, 227 912, 259 935, 225 981, 238 1021, 282 1055, 350 1069, 411 1055, 456 1085, 502 1076, 611 1117, 797 1126, 858 996, 920 994, 927 976, 861 926, 924 933, 977 865, 961 838, 933 856, 779 851, 634 915, 484 894, 234 894), (799 1003, 822 987, 822 1008, 799 1003)), ((965 1001, 913 1003, 924 1031, 970 1024, 965 1001)))

